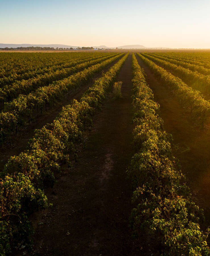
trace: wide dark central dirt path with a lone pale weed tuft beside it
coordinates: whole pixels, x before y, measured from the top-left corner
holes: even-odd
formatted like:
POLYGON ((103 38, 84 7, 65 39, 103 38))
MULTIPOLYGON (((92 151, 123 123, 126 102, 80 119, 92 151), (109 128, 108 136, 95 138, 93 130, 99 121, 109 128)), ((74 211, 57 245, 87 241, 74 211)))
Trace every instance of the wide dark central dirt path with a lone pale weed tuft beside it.
POLYGON ((125 173, 133 154, 131 67, 129 55, 118 76, 122 98, 110 94, 94 115, 80 162, 45 191, 53 207, 33 216, 28 255, 140 255, 128 228, 132 189, 125 173))

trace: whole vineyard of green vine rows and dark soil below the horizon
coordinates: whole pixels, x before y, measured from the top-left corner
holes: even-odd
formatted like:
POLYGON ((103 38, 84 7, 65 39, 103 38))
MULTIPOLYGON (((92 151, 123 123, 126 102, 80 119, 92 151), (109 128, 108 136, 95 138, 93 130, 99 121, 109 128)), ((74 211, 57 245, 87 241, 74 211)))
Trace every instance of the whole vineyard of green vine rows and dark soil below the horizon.
POLYGON ((210 255, 210 53, 0 53, 0 111, 1 255, 210 255))

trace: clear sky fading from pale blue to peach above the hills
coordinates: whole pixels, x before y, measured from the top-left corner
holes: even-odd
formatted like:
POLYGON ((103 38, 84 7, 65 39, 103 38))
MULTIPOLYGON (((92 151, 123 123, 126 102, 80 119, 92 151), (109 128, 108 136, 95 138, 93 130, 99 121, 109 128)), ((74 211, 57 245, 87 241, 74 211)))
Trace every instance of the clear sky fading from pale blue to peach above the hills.
POLYGON ((210 48, 209 0, 0 0, 0 43, 210 48))

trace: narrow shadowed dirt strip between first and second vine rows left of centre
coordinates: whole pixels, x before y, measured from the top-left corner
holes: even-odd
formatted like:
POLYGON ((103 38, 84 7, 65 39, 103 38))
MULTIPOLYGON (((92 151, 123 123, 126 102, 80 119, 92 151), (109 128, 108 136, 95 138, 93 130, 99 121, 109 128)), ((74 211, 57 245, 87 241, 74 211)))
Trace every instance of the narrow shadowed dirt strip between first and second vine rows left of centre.
MULTIPOLYGON (((119 59, 118 59, 119 60, 119 59)), ((109 64, 104 72, 107 72, 108 69, 113 66, 117 61, 109 64)), ((47 111, 43 113, 43 115, 39 115, 31 121, 30 124, 24 125, 18 129, 18 133, 12 135, 11 140, 7 143, 4 143, 2 147, 0 147, 0 170, 4 168, 5 163, 8 161, 10 156, 18 155, 22 152, 26 145, 28 144, 29 139, 34 136, 35 129, 41 129, 47 123, 52 123, 55 117, 59 115, 63 106, 66 106, 71 103, 72 99, 79 100, 81 95, 92 86, 93 82, 102 76, 102 72, 98 72, 93 79, 91 79, 87 84, 84 84, 77 88, 75 91, 72 91, 66 94, 64 100, 55 104, 54 107, 48 107, 47 111)))

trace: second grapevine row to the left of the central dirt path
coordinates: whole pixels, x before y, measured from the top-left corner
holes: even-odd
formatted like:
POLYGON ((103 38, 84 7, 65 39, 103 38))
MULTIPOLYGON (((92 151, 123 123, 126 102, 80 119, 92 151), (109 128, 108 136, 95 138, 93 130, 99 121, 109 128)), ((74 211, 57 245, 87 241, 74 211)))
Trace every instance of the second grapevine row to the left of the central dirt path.
POLYGON ((68 78, 53 82, 49 86, 40 87, 28 95, 20 95, 12 102, 6 103, 5 112, 0 113, 0 142, 5 141, 17 125, 22 125, 27 119, 32 118, 35 109, 38 113, 42 113, 47 104, 53 105, 55 101, 63 99, 68 90, 73 90, 86 83, 96 72, 101 71, 122 55, 122 53, 117 54, 68 78))

